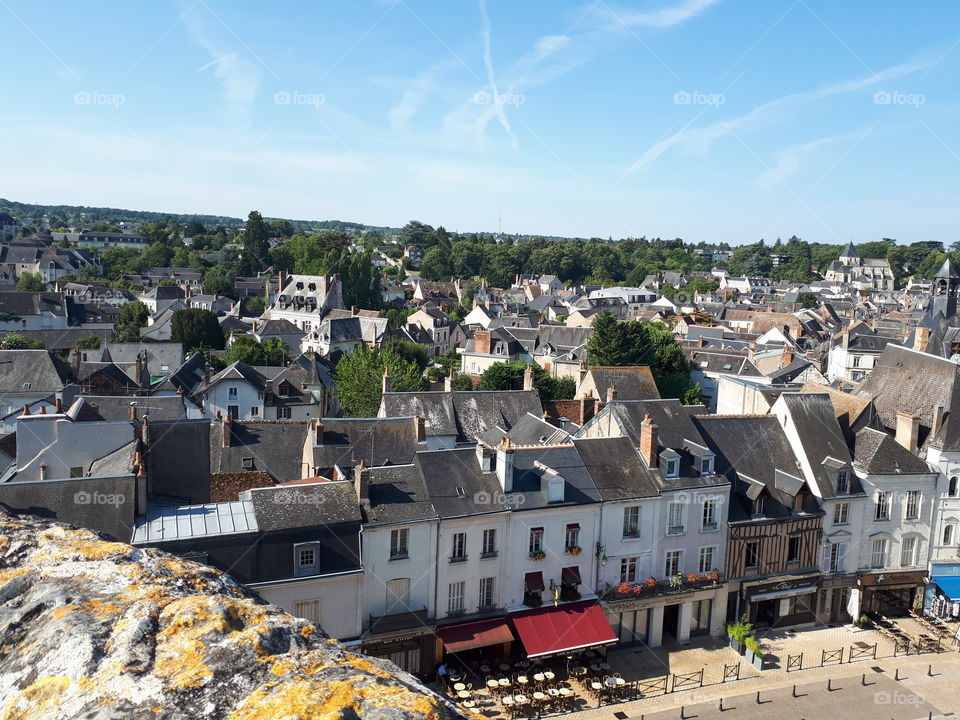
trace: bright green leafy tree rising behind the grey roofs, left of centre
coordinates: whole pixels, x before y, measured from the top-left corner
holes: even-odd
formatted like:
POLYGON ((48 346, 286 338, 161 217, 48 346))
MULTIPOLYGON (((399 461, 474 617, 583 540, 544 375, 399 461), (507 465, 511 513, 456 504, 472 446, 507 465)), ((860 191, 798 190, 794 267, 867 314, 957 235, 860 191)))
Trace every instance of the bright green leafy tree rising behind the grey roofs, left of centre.
POLYGON ((337 387, 333 394, 346 417, 375 417, 380 409, 384 368, 390 371, 394 392, 423 390, 423 374, 417 365, 390 350, 358 346, 337 363, 337 387))

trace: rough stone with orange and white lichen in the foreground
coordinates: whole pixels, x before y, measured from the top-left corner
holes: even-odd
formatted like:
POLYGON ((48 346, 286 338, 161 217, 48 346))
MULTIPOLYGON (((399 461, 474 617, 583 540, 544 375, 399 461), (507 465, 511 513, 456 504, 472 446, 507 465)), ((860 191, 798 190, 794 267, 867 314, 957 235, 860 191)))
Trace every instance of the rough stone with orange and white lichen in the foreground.
POLYGON ((0 514, 0 720, 457 717, 217 570, 0 514))

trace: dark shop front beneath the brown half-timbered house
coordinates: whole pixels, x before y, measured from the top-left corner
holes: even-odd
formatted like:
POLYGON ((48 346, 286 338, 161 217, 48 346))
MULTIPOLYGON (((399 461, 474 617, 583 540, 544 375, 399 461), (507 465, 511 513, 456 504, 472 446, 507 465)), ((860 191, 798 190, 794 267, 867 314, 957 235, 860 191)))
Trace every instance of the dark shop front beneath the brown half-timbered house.
POLYGON ((754 625, 789 627, 816 621, 820 573, 745 582, 743 607, 754 625))

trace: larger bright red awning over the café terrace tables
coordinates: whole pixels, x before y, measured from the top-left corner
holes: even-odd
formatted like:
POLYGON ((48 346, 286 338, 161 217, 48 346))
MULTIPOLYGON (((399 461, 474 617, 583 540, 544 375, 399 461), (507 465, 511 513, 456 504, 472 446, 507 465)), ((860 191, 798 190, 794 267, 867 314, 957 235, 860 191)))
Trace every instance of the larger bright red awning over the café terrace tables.
POLYGON ((617 636, 595 600, 525 610, 510 619, 527 657, 544 657, 612 645, 617 636))

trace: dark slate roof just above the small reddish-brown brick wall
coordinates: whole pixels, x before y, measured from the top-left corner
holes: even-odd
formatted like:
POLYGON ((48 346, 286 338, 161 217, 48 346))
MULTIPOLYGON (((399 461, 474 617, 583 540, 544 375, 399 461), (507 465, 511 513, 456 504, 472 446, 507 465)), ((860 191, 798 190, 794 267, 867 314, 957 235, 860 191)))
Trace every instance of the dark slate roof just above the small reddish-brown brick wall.
POLYGON ((299 480, 307 430, 306 422, 290 420, 211 423, 210 471, 258 470, 270 473, 278 483, 299 480), (225 427, 230 429, 230 447, 223 447, 225 427), (247 467, 244 458, 251 458, 247 467))

